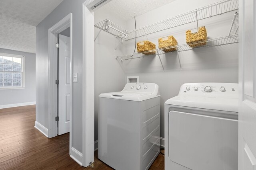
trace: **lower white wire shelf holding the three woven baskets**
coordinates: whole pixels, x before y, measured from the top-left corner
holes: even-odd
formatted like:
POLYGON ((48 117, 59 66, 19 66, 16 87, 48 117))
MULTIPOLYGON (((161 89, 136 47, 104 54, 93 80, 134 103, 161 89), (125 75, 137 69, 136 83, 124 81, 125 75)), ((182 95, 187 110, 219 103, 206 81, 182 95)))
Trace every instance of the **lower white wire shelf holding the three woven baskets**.
MULTIPOLYGON (((233 37, 226 36, 226 37, 220 37, 220 38, 207 39, 206 40, 206 45, 201 45, 201 46, 196 47, 196 48, 191 48, 188 44, 182 44, 182 45, 167 47, 167 48, 164 48, 164 49, 171 49, 171 48, 176 47, 178 49, 178 52, 180 52, 180 51, 188 51, 188 50, 192 50, 192 49, 197 49, 197 48, 201 48, 201 47, 213 47, 213 46, 218 46, 218 45, 227 45, 227 44, 238 43, 238 40, 237 40, 238 35, 233 35, 233 37)), ((197 42, 197 43, 193 43, 193 44, 200 44, 200 43, 201 42, 197 42)), ((148 52, 153 52, 153 51, 156 51, 156 55, 165 54, 165 52, 160 50, 160 49, 151 50, 151 51, 148 51, 148 52)), ((169 53, 174 53, 174 52, 176 52, 176 51, 169 52, 169 53)), ((134 54, 116 56, 116 58, 130 60, 130 59, 136 59, 136 58, 141 58, 141 57, 145 57, 145 56, 149 56, 149 55, 144 55, 142 53, 134 53, 134 54)))

